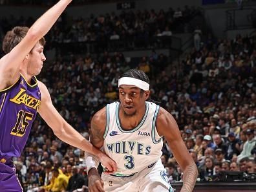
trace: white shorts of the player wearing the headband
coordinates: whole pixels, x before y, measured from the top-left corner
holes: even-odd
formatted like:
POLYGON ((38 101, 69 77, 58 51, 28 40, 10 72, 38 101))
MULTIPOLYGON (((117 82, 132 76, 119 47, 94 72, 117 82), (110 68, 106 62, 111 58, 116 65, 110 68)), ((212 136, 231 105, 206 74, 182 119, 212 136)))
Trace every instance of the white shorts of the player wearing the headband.
POLYGON ((119 177, 102 173, 106 192, 173 192, 161 160, 133 176, 119 177))

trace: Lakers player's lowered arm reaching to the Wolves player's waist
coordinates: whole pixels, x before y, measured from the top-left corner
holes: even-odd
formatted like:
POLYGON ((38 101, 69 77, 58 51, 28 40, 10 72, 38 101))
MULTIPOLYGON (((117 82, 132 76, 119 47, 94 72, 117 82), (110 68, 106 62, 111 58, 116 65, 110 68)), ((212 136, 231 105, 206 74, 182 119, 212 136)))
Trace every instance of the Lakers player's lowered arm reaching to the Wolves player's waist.
POLYGON ((41 91, 41 105, 39 107, 39 114, 49 125, 52 131, 54 131, 54 134, 58 136, 59 139, 63 140, 63 142, 97 156, 101 163, 110 171, 116 169, 116 164, 113 160, 111 160, 111 158, 94 147, 62 118, 59 112, 52 105, 52 100, 47 87, 40 81, 38 81, 38 86, 41 91))

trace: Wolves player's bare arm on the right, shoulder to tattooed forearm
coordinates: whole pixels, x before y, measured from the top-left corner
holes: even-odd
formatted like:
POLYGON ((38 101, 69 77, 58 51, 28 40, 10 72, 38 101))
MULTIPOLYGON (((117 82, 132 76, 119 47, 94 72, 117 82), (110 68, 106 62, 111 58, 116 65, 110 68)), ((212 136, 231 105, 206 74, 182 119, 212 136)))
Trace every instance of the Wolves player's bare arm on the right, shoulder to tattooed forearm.
POLYGON ((197 165, 187 151, 175 119, 163 108, 158 113, 156 129, 158 134, 165 137, 176 161, 182 167, 184 175, 181 192, 193 191, 198 176, 197 165))

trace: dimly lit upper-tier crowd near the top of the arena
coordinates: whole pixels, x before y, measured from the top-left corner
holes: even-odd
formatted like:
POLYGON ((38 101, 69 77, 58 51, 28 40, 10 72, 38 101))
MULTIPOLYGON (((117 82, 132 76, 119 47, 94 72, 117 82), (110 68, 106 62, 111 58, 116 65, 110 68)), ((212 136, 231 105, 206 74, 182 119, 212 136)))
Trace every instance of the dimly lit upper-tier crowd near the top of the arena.
MULTIPOLYGON (((101 16, 91 15, 88 18, 72 18, 71 22, 69 16, 63 14, 48 33, 47 43, 50 47, 61 47, 62 50, 74 51, 75 48, 76 52, 170 47, 172 34, 188 31, 189 21, 201 14, 197 8, 188 6, 183 10, 169 8, 158 12, 112 12, 101 16)), ((32 17, 3 17, 0 20, 0 31, 2 29, 2 34, 5 34, 4 32, 16 25, 30 26, 33 21, 32 17)))

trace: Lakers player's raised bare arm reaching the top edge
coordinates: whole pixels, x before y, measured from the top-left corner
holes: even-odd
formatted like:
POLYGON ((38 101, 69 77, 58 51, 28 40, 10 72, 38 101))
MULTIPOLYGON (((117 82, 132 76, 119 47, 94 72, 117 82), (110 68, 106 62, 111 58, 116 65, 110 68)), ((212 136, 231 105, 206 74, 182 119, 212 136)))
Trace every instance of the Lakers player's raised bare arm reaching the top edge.
POLYGON ((19 77, 19 65, 26 58, 30 50, 36 45, 41 37, 45 36, 52 25, 56 22, 63 10, 72 0, 60 0, 52 6, 43 16, 30 27, 27 35, 8 54, 0 59, 0 84, 1 87, 14 83, 19 77), (5 85, 3 85, 5 84, 5 85))

